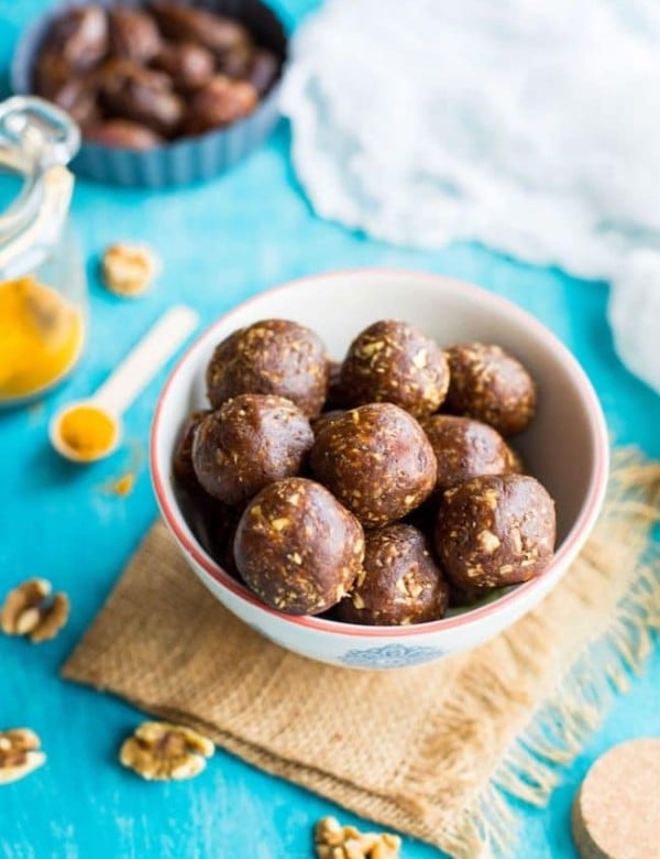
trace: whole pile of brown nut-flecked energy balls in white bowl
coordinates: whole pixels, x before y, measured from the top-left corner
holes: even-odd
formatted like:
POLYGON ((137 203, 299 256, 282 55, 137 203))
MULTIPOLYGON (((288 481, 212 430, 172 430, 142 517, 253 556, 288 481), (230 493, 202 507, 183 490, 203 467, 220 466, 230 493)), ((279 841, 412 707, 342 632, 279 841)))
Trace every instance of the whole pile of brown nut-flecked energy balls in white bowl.
POLYGON ((420 623, 551 562, 554 503, 509 444, 537 389, 499 346, 386 319, 334 363, 309 328, 264 319, 218 344, 206 382, 174 454, 179 502, 272 608, 420 623))

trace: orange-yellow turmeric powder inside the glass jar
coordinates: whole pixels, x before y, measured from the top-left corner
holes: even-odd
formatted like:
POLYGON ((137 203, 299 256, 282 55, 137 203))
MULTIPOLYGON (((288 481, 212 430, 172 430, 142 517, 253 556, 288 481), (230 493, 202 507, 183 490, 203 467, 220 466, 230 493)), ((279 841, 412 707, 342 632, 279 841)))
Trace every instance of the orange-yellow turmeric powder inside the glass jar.
POLYGON ((0 283, 0 402, 37 393, 75 365, 80 312, 34 278, 0 283))

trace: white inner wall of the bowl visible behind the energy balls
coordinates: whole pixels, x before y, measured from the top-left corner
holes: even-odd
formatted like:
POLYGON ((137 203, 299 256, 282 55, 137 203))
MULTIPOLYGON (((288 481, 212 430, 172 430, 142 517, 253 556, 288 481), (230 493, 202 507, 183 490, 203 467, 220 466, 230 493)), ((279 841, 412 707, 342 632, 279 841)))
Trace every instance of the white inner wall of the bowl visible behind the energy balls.
MULTIPOLYGON (((153 459, 165 478, 161 491, 167 507, 177 509, 167 479, 172 453, 187 413, 207 406, 205 370, 215 346, 237 328, 268 317, 314 328, 337 359, 362 328, 383 318, 405 319, 446 346, 470 340, 499 344, 538 383, 538 413, 513 444, 557 502, 558 548, 583 526, 585 509, 590 507, 592 514, 597 509, 606 468, 605 426, 590 382, 560 341, 524 311, 479 287, 437 275, 380 270, 319 275, 262 293, 201 335, 170 376, 158 406, 153 459)), ((179 525, 195 540, 185 523, 179 525)))

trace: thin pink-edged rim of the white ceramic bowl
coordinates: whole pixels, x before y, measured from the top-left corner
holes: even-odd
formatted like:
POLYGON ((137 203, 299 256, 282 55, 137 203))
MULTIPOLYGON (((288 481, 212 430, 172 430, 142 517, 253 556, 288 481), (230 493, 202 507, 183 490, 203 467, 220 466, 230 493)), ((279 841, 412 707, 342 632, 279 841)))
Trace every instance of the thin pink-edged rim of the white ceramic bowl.
POLYGON ((584 372, 580 363, 576 361, 576 359, 566 349, 566 347, 550 330, 548 330, 548 328, 546 328, 540 322, 538 322, 538 319, 536 319, 534 316, 528 314, 521 307, 518 307, 516 304, 513 304, 506 298, 503 298, 499 295, 491 293, 487 290, 482 289, 481 286, 476 286, 472 283, 466 283, 463 281, 458 281, 453 278, 444 278, 443 275, 429 274, 425 272, 414 272, 404 269, 344 269, 344 270, 328 272, 327 274, 317 274, 317 275, 310 275, 306 278, 299 278, 293 281, 287 281, 286 283, 279 284, 278 286, 274 286, 271 290, 262 291, 256 295, 252 296, 251 298, 248 298, 246 301, 242 302, 240 305, 232 308, 231 311, 228 311, 219 319, 217 319, 216 323, 209 326, 195 340, 195 342, 186 350, 186 352, 177 361, 172 373, 169 374, 169 378, 165 382, 163 391, 161 392, 161 395, 158 398, 158 402, 156 404, 156 410, 154 413, 154 418, 151 428, 150 465, 151 465, 152 481, 153 481, 156 499, 161 508, 161 512, 163 513, 163 517, 167 522, 168 528, 175 534, 180 546, 199 564, 199 566, 209 576, 216 579, 216 581, 218 581, 224 588, 230 590, 232 594, 245 600, 246 602, 250 602, 251 605, 255 606, 261 611, 264 611, 267 615, 272 615, 278 618, 279 620, 284 620, 289 623, 293 623, 294 626, 306 627, 307 629, 317 630, 318 632, 330 632, 334 634, 361 635, 364 638, 377 637, 377 638, 395 639, 395 638, 405 638, 407 635, 419 635, 420 633, 424 632, 440 632, 444 630, 455 629, 458 627, 465 628, 471 623, 476 623, 483 620, 484 618, 497 613, 502 611, 504 608, 512 606, 514 602, 519 601, 524 597, 524 595, 539 587, 541 581, 551 573, 553 568, 570 563, 570 561, 578 553, 578 551, 580 550, 580 547, 588 536, 593 525, 595 524, 598 512, 601 510, 601 505, 605 497, 605 490, 607 488, 607 475, 608 475, 608 467, 609 467, 609 446, 608 446, 607 427, 605 424, 605 418, 603 416, 603 411, 601 409, 601 404, 593 389, 593 385, 590 382, 588 378, 586 377, 586 373, 584 372), (212 328, 221 325, 222 323, 227 323, 231 320, 232 316, 235 313, 238 313, 239 309, 242 311, 246 306, 250 306, 251 304, 260 301, 267 293, 275 293, 275 292, 283 293, 286 292, 287 290, 297 289, 300 285, 300 283, 306 283, 310 281, 320 281, 324 279, 334 279, 337 276, 341 276, 342 274, 349 275, 349 274, 358 274, 358 273, 361 274, 394 273, 394 274, 405 274, 406 276, 410 278, 410 280, 427 280, 427 281, 442 280, 446 283, 448 281, 451 281, 457 285, 459 285, 464 291, 472 292, 474 295, 477 296, 487 297, 488 301, 495 302, 496 304, 499 304, 501 306, 505 307, 508 314, 510 314, 512 316, 516 316, 520 322, 524 322, 526 326, 528 326, 530 329, 534 330, 534 333, 539 338, 539 340, 544 341, 549 347, 551 347, 551 349, 556 354, 559 352, 561 359, 571 367, 571 372, 575 378, 576 385, 578 388, 580 388, 584 400, 588 403, 591 432, 594 439, 594 467, 592 469, 592 476, 591 476, 591 481, 586 494, 586 501, 580 512, 580 515, 578 517, 578 520, 574 522, 565 540, 557 551, 552 564, 548 567, 548 569, 546 569, 543 574, 538 578, 530 579, 529 581, 518 585, 514 590, 509 591, 508 594, 504 594, 498 599, 485 606, 481 606, 479 608, 468 610, 464 613, 457 615, 454 617, 444 618, 442 620, 435 620, 428 623, 419 623, 409 627, 361 627, 359 624, 349 626, 334 620, 327 620, 324 618, 316 618, 311 616, 285 615, 284 612, 276 611, 270 606, 266 606, 264 602, 258 600, 250 590, 248 590, 246 587, 241 585, 239 581, 232 578, 228 573, 226 573, 222 569, 222 567, 216 564, 216 562, 199 546, 199 544, 194 539, 190 539, 190 536, 187 533, 186 526, 182 524, 182 522, 184 521, 182 513, 178 511, 178 509, 176 509, 175 507, 173 507, 173 504, 170 504, 169 500, 166 497, 164 487, 165 487, 165 482, 169 481, 169 475, 161 474, 156 461, 156 455, 155 455, 155 450, 156 450, 155 442, 160 432, 163 403, 166 398, 169 385, 174 381, 179 368, 187 360, 190 352, 193 352, 197 348, 199 341, 202 338, 205 338, 212 328))

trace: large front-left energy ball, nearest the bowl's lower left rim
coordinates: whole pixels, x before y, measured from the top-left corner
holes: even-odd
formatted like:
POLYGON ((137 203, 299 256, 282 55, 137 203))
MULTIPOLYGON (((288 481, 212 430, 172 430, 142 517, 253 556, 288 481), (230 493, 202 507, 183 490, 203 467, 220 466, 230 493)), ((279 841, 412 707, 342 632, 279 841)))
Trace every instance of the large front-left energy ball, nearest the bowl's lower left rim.
POLYGON ((353 585, 364 557, 360 522, 314 480, 263 489, 241 517, 234 558, 248 587, 288 615, 320 615, 353 585))

